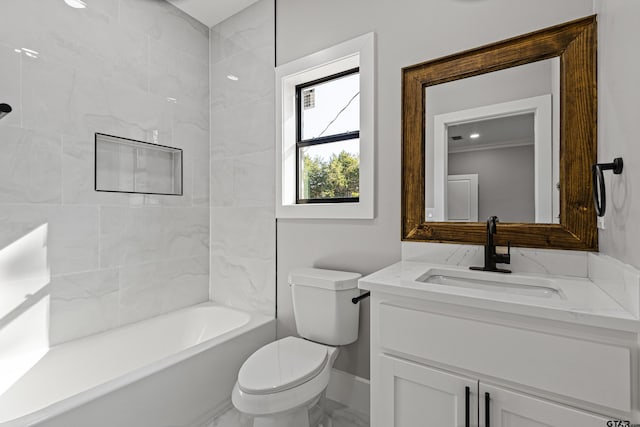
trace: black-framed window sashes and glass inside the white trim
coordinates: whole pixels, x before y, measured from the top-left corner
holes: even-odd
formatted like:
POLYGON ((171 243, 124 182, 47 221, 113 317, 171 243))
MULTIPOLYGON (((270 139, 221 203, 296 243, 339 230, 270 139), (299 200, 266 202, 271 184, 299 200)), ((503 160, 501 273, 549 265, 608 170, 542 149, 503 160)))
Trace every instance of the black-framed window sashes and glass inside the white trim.
POLYGON ((358 202, 359 69, 298 85, 296 100, 296 202, 358 202))

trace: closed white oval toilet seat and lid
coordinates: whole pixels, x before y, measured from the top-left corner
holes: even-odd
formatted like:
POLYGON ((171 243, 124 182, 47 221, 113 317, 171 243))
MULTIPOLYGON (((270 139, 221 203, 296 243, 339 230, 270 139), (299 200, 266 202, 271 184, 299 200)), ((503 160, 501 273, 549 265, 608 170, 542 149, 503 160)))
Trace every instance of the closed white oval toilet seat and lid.
POLYGON ((242 365, 238 387, 250 394, 272 394, 297 387, 322 371, 327 350, 322 344, 295 337, 267 344, 242 365))

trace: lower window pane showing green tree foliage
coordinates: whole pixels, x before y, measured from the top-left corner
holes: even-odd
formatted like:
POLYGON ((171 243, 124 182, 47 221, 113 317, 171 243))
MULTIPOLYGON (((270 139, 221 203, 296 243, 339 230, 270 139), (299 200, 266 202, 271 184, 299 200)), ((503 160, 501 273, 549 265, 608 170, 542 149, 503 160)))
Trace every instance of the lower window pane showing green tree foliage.
POLYGON ((327 200, 360 195, 360 140, 300 147, 299 199, 327 200))

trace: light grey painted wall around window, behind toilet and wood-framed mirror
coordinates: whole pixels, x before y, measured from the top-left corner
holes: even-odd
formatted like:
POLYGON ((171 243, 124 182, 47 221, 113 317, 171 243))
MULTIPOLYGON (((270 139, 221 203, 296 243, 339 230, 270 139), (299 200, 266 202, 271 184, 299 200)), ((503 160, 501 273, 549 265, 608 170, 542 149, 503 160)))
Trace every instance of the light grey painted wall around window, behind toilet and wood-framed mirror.
MULTIPOLYGON (((400 259, 401 68, 592 10, 592 0, 277 1, 277 64, 369 31, 377 35, 376 219, 278 221, 280 336, 295 333, 286 280, 290 269, 318 266, 370 273, 400 259)), ((339 369, 362 377, 369 376, 367 307, 363 304, 360 340, 336 362, 339 369)))

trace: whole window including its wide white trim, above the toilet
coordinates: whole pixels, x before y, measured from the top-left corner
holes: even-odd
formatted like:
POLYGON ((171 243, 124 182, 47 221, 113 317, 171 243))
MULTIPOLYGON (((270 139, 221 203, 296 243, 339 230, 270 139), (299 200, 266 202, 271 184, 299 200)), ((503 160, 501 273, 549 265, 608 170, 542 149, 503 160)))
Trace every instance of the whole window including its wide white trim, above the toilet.
POLYGON ((374 217, 374 37, 276 68, 278 218, 374 217))

